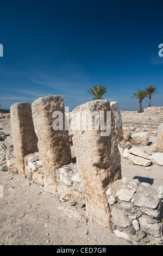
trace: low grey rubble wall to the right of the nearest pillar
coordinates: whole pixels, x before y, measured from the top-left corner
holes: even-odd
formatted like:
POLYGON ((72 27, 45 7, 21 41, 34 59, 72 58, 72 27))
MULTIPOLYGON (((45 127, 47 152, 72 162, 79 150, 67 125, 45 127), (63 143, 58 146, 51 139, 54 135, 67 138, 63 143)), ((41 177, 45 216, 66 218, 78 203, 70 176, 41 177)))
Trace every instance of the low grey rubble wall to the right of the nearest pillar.
POLYGON ((163 186, 122 178, 106 191, 116 236, 133 245, 161 244, 163 186))

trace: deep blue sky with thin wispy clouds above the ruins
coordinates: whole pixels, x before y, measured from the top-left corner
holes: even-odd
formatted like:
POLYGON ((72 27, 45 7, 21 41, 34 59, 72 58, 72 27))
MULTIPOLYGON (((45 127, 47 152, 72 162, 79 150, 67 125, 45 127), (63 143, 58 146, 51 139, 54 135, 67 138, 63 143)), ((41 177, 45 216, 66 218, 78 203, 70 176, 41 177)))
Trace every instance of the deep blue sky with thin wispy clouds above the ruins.
MULTIPOLYGON (((0 104, 61 95, 65 106, 104 99, 139 109, 133 92, 153 84, 151 106, 163 106, 162 1, 0 0, 0 104)), ((142 107, 148 107, 148 99, 142 107)))

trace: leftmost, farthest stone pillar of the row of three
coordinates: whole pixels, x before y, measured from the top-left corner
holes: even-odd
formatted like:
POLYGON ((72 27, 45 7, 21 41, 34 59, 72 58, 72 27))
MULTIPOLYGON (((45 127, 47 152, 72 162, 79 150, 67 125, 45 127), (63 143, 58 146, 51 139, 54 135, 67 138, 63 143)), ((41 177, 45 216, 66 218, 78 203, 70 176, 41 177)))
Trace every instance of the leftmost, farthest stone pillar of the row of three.
POLYGON ((14 154, 18 174, 24 174, 24 157, 35 153, 37 149, 37 136, 35 134, 31 103, 15 103, 10 107, 11 131, 14 144, 14 154))

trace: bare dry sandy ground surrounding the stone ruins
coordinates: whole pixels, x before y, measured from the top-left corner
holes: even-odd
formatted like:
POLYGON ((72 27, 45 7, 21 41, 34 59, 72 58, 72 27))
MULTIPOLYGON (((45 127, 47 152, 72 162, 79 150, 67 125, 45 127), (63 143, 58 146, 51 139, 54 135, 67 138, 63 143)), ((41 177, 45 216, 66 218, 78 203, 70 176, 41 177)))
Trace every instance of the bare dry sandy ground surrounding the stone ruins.
MULTIPOLYGON (((121 114, 124 128, 134 125, 140 131, 149 132, 151 143, 146 148, 140 148, 152 151, 163 117, 148 117, 136 112, 121 114)), ((1 131, 11 133, 10 119, 0 119, 0 127, 1 131)), ((137 178, 155 186, 162 185, 163 167, 157 164, 148 170, 122 157, 121 165, 122 176, 137 178)), ((0 172, 0 185, 3 187, 3 198, 0 198, 1 245, 130 245, 102 225, 80 223, 66 217, 58 209, 65 203, 20 175, 0 172)))

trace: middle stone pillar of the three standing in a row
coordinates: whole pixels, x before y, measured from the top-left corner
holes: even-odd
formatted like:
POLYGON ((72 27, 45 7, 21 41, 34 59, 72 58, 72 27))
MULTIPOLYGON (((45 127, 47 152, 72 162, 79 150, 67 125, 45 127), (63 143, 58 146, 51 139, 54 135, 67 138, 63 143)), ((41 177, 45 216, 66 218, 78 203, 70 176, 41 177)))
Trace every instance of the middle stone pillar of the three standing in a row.
POLYGON ((41 97, 32 103, 37 145, 44 173, 44 187, 45 191, 50 193, 57 191, 56 169, 71 162, 68 130, 56 129, 57 121, 64 126, 65 119, 62 119, 65 118, 64 114, 64 100, 60 96, 41 97))

